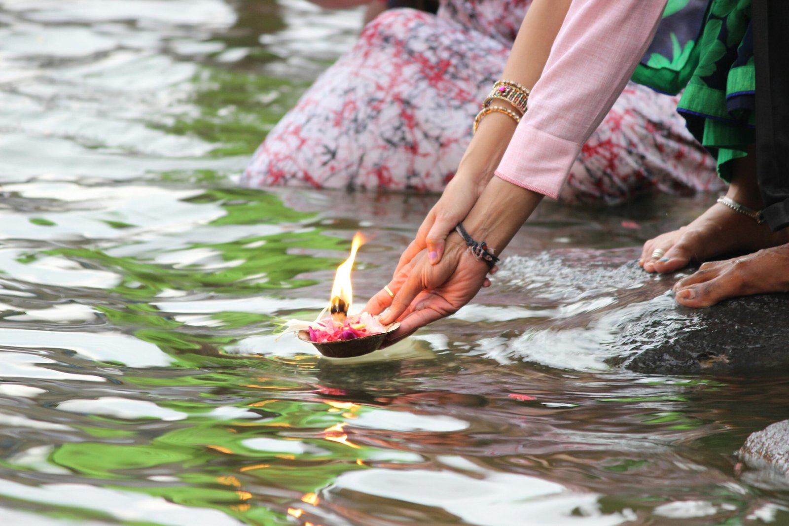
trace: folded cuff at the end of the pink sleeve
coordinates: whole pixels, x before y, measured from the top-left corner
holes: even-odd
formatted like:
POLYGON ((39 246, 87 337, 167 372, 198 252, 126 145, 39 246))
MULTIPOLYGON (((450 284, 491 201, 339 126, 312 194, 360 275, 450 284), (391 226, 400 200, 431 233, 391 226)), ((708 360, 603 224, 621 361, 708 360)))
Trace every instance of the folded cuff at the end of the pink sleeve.
POLYGON ((504 181, 559 199, 581 144, 552 136, 525 122, 518 125, 495 174, 504 181), (557 177, 559 176, 559 177, 557 177))

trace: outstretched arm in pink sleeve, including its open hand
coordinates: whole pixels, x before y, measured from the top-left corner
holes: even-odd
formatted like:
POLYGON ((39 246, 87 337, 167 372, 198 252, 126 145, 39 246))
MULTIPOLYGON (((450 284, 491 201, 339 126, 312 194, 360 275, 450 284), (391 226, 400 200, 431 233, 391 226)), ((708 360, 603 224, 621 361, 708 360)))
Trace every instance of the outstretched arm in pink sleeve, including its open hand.
MULTIPOLYGON (((665 3, 574 0, 533 88, 529 111, 496 170, 498 177, 485 186, 464 221, 474 239, 501 252, 544 195, 558 196, 581 145, 611 109, 652 41, 665 3)), ((482 132, 480 127, 478 135, 482 132)), ((402 319, 394 338, 457 311, 481 288, 488 270, 464 248, 460 237, 451 234, 447 258, 435 266, 439 268, 426 268, 423 252, 395 274, 389 285, 394 299, 381 291, 366 309, 378 313, 391 304, 382 323, 402 319)))

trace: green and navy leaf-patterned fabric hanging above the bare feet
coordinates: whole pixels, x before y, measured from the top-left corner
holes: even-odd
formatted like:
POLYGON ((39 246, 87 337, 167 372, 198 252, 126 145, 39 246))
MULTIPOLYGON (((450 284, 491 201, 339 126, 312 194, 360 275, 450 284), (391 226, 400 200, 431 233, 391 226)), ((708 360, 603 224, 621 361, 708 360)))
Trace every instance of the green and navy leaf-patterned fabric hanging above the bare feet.
POLYGON ((754 141, 755 71, 751 0, 669 0, 633 80, 682 91, 678 111, 731 180, 733 159, 754 141))

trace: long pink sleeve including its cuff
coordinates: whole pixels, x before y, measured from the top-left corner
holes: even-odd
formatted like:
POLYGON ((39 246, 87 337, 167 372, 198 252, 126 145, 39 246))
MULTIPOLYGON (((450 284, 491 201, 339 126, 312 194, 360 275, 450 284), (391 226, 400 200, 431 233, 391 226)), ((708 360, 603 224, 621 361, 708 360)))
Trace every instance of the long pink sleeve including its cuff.
POLYGON ((496 175, 556 199, 652 42, 667 0, 574 0, 496 175))

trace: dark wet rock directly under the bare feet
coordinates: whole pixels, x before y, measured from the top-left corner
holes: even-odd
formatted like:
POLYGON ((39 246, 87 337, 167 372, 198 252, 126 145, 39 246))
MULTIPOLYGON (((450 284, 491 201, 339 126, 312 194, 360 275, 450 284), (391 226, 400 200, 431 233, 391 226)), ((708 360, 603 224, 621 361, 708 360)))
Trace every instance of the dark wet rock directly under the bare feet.
POLYGON ((789 371, 789 295, 767 294, 692 309, 654 302, 626 320, 617 345, 632 371, 656 374, 789 371))

